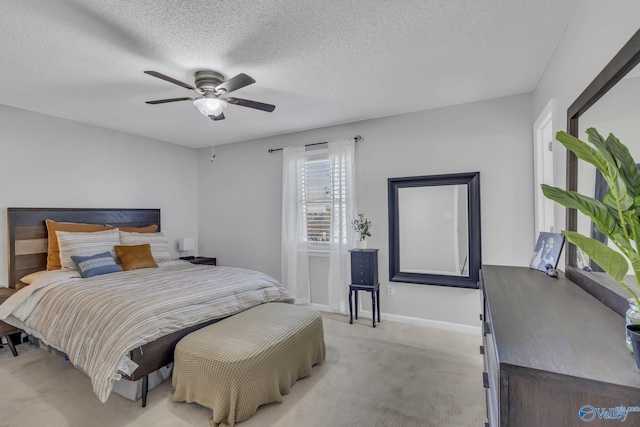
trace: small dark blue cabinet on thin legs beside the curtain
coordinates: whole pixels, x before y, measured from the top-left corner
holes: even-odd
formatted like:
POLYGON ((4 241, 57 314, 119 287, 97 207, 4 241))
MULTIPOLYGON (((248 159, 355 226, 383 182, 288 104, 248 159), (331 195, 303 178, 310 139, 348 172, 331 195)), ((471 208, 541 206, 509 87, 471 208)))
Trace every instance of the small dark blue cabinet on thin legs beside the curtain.
POLYGON ((371 292, 371 317, 376 327, 376 311, 380 322, 380 284, 378 283, 378 250, 352 249, 351 284, 349 285, 349 323, 353 323, 353 303, 355 298, 355 317, 358 318, 358 291, 371 292))

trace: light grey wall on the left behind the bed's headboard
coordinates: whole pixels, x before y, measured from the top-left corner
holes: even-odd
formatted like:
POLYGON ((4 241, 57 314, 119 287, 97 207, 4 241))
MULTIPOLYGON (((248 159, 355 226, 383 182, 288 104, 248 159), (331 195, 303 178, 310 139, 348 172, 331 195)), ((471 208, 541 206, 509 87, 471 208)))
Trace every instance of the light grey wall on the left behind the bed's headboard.
MULTIPOLYGON (((0 105, 0 241, 8 207, 160 208, 162 229, 197 236, 196 150, 0 105)), ((0 246, 0 286, 7 281, 0 246)))

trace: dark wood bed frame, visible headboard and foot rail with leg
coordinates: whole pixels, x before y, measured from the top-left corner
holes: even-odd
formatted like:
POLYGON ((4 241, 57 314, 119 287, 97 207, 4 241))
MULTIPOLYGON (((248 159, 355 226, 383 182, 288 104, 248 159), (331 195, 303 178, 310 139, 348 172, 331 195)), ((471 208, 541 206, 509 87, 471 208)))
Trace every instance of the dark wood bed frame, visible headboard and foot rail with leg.
MULTIPOLYGON (((10 288, 24 286, 21 277, 47 269, 47 219, 116 227, 157 224, 160 231, 160 209, 7 208, 10 288)), ((182 337, 218 320, 174 332, 129 353, 129 358, 139 366, 131 376, 124 378, 142 379, 143 407, 147 404, 148 374, 173 362, 173 350, 182 337)))

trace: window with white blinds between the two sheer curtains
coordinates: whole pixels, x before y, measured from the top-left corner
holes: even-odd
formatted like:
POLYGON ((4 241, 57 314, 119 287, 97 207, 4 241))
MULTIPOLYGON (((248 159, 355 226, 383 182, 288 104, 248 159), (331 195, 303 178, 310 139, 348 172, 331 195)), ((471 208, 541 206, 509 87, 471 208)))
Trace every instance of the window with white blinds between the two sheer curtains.
POLYGON ((331 239, 331 165, 327 156, 307 159, 302 167, 303 239, 317 249, 331 239), (324 244, 323 244, 324 243, 324 244))

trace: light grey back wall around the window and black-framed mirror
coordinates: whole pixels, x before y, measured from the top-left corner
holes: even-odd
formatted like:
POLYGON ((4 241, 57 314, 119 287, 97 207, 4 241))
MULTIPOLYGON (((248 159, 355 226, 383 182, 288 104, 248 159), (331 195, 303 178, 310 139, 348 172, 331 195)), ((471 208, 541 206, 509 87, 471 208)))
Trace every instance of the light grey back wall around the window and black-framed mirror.
MULTIPOLYGON (((282 153, 267 149, 359 134, 358 212, 373 222, 369 247, 380 249, 382 312, 477 326, 475 290, 393 283, 395 296, 386 295, 387 179, 480 171, 483 261, 526 266, 535 243, 532 116, 525 94, 223 145, 213 164, 210 149, 201 149, 200 253, 279 278, 282 153)), ((325 258, 312 260, 316 304, 327 304, 327 265, 325 258)))

